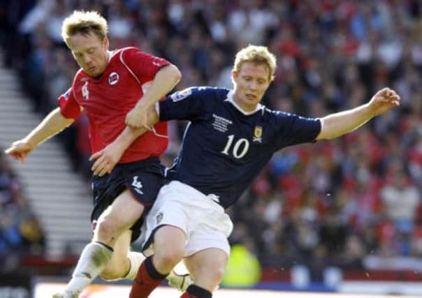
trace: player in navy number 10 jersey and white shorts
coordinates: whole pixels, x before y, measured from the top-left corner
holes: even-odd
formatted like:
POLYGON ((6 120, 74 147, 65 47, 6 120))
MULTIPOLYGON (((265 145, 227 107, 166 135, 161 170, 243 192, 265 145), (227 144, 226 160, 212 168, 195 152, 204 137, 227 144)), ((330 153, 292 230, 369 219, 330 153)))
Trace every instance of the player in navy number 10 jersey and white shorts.
MULTIPOLYGON (((294 144, 333 139, 400 105, 385 88, 364 105, 319 119, 270 110, 260 104, 273 80, 276 59, 263 46, 249 45, 235 57, 234 89, 192 87, 168 96, 149 111, 150 123, 189 120, 173 181, 161 188, 145 221, 148 257, 132 285, 131 298, 147 297, 184 259, 194 284, 181 297, 209 298, 223 276, 233 224, 230 207, 275 151, 294 144), (153 249, 151 244, 154 244, 153 249)), ((145 119, 145 118, 144 118, 145 119)), ((140 131, 121 137, 93 158, 96 171, 112 167, 140 131)))

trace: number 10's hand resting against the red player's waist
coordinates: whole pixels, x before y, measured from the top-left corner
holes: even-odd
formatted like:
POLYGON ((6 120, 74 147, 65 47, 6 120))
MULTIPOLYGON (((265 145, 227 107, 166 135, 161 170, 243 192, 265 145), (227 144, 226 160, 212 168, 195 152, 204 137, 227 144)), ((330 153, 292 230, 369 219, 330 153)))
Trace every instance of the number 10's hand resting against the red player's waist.
POLYGON ((94 175, 103 177, 105 174, 110 174, 115 165, 120 161, 120 158, 122 158, 123 153, 124 149, 119 147, 119 144, 116 142, 112 142, 106 148, 92 154, 89 161, 95 160, 94 165, 91 167, 94 175))

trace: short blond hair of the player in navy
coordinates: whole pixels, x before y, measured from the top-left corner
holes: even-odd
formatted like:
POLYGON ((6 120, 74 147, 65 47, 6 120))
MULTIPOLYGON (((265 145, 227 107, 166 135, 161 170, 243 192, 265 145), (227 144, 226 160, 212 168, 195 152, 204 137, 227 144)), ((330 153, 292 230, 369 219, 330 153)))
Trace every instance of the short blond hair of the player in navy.
POLYGON ((236 73, 239 73, 240 68, 245 62, 264 64, 269 70, 268 80, 270 82, 274 80, 277 58, 268 50, 268 47, 263 45, 248 45, 247 47, 244 47, 236 54, 233 70, 235 70, 236 73))

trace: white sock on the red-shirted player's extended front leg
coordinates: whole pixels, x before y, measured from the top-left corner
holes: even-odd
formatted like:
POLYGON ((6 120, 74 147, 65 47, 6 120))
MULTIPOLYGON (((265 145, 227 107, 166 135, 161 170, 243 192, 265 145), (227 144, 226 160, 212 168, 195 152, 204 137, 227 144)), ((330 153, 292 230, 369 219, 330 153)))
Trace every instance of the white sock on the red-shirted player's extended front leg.
MULTIPOLYGON (((99 276, 110 261, 112 248, 100 242, 91 242, 80 254, 78 265, 72 274, 72 279, 66 285, 65 292, 80 295, 87 286, 99 276)), ((76 296, 78 297, 78 296, 76 296)))

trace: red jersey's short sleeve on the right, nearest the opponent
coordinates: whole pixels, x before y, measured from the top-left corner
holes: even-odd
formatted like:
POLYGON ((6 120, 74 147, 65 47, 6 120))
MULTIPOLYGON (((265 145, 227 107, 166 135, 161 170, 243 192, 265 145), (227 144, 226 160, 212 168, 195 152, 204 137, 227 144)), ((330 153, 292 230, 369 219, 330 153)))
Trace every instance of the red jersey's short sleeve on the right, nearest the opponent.
POLYGON ((153 80, 160 68, 170 64, 166 59, 147 54, 136 47, 124 50, 122 59, 124 64, 129 66, 138 77, 141 84, 153 80))

